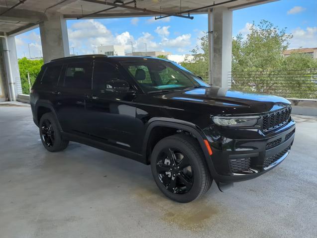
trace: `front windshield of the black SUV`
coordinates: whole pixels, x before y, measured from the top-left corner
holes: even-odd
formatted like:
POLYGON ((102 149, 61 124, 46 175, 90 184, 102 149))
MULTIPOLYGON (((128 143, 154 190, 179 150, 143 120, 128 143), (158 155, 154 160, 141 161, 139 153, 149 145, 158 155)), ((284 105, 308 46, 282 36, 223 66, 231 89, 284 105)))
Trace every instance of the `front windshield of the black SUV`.
POLYGON ((145 92, 209 86, 185 68, 168 61, 144 59, 124 61, 121 65, 145 92))

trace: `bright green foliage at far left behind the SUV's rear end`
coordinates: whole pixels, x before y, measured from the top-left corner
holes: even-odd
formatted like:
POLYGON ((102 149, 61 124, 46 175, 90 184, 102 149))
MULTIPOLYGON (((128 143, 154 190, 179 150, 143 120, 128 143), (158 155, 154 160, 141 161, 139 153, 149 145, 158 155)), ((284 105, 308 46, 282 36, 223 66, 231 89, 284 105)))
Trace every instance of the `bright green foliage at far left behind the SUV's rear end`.
POLYGON ((41 60, 29 60, 25 57, 18 60, 22 92, 24 94, 29 94, 29 85, 27 80, 27 71, 30 74, 31 86, 33 85, 36 76, 41 70, 42 65, 44 64, 43 59, 41 60))

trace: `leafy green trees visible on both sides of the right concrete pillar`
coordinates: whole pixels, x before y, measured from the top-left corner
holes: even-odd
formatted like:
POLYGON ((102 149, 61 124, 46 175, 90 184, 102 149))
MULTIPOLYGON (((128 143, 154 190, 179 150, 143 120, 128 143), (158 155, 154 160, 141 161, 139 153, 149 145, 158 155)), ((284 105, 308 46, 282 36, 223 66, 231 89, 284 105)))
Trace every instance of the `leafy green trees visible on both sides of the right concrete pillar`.
MULTIPOLYGON (((283 56, 292 35, 271 22, 261 20, 250 26, 243 38, 232 39, 232 88, 282 95, 285 97, 317 98, 317 60, 309 55, 283 56)), ((208 80, 208 36, 201 46, 192 50, 194 61, 184 61, 182 66, 208 80)))

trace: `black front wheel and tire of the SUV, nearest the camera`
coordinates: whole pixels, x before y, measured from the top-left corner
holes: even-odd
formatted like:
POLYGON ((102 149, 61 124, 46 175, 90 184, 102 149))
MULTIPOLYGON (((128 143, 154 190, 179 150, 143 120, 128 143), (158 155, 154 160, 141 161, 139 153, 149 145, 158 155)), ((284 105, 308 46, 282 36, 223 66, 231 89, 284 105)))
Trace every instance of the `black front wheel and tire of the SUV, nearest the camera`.
POLYGON ((166 137, 155 145, 151 170, 159 189, 181 203, 199 198, 212 183, 199 142, 184 134, 166 137))

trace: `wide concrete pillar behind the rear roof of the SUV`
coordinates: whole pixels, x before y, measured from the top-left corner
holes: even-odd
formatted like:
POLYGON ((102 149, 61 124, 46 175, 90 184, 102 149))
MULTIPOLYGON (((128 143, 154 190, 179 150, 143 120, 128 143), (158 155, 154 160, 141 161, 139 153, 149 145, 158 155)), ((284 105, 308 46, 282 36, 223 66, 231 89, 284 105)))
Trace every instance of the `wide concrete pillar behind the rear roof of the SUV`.
POLYGON ((60 14, 49 14, 39 24, 44 63, 69 56, 66 20, 60 14))

